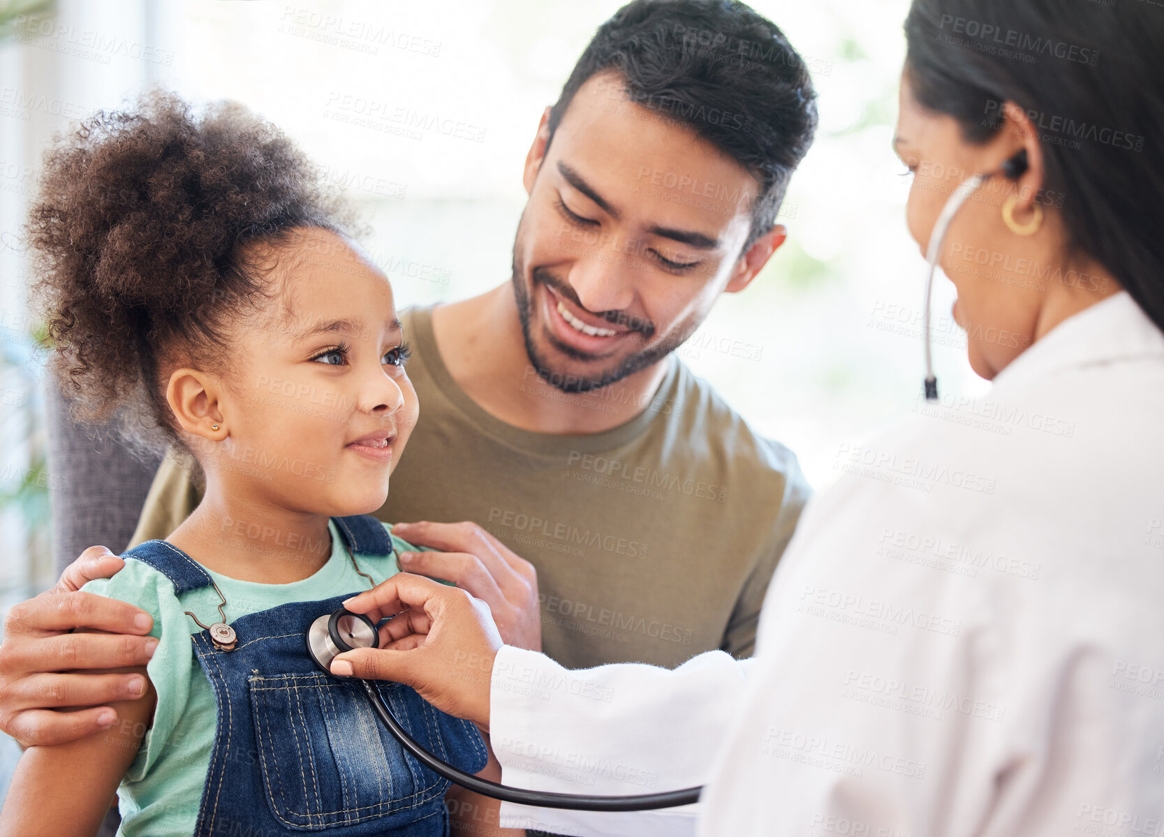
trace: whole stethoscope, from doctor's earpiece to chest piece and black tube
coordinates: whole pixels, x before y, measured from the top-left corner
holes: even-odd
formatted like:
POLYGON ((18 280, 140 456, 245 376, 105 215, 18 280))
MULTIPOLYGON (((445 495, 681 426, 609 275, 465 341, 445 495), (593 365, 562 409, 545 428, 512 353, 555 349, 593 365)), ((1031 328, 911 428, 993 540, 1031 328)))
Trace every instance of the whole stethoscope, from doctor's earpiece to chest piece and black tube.
MULTIPOLYGON (((1002 164, 1000 172, 1010 180, 1017 180, 1027 170, 1027 151, 1020 151, 1014 157, 1002 164)), ((930 353, 930 298, 934 290, 934 271, 938 260, 942 257, 942 244, 945 241, 946 232, 953 221, 958 210, 963 204, 977 192, 991 175, 974 175, 954 189, 946 200, 945 206, 934 225, 934 233, 927 248, 927 262, 929 271, 925 277, 925 397, 935 399, 938 397, 937 377, 934 375, 934 360, 930 353)), ((359 569, 359 568, 357 568, 359 569)), ((363 573, 361 573, 363 575, 363 573)), ((367 576, 365 576, 367 577, 367 576)), ((475 775, 457 769, 447 761, 442 761, 427 750, 421 747, 405 731, 400 723, 392 715, 392 710, 384 701, 384 696, 369 681, 360 678, 347 678, 332 674, 331 664, 339 654, 356 648, 379 647, 379 634, 376 625, 363 613, 353 613, 340 608, 334 613, 320 616, 307 630, 307 651, 315 665, 326 674, 340 680, 359 680, 363 686, 368 702, 371 704, 376 716, 381 719, 389 732, 400 743, 417 761, 449 781, 456 782, 463 788, 490 796, 503 802, 517 802, 519 804, 538 806, 540 808, 568 808, 573 810, 588 811, 638 811, 653 810, 656 808, 673 808, 675 806, 690 804, 697 802, 702 787, 683 788, 681 790, 668 790, 656 794, 638 794, 632 796, 591 796, 584 794, 555 794, 537 790, 525 790, 521 788, 491 782, 478 779, 475 775)))

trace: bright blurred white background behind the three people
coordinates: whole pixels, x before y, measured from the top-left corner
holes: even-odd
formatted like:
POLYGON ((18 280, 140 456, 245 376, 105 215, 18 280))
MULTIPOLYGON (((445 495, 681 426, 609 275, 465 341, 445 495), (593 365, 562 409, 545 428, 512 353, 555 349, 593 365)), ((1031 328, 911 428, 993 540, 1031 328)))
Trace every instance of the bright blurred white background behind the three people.
MULTIPOLYGON (((463 298, 508 281, 538 120, 620 5, 0 0, 0 611, 55 581, 22 235, 55 133, 151 85, 242 101, 363 208, 363 243, 398 305, 463 298), (416 127, 443 120, 467 129, 416 127)), ((805 57, 821 127, 779 219, 789 242, 681 355, 821 489, 839 444, 908 412, 921 391, 924 262, 890 148, 908 0, 752 5, 805 57)), ((935 363, 945 391, 979 395, 952 299, 938 283, 935 363)), ((8 769, 0 754, 0 795, 8 769)))

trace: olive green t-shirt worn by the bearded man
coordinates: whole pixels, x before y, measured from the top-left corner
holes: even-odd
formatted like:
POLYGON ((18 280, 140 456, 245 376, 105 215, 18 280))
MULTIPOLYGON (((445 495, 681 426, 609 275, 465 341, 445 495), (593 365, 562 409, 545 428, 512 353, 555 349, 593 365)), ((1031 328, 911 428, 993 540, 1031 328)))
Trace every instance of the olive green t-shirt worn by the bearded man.
MULTIPOLYGON (((568 668, 674 667, 715 648, 751 655, 764 593, 808 498, 788 448, 754 433, 674 355, 643 412, 618 427, 519 430, 453 381, 431 308, 402 320, 420 420, 376 517, 475 520, 533 563, 542 647, 568 668)), ((190 467, 166 457, 133 542, 165 538, 197 503, 190 467)))

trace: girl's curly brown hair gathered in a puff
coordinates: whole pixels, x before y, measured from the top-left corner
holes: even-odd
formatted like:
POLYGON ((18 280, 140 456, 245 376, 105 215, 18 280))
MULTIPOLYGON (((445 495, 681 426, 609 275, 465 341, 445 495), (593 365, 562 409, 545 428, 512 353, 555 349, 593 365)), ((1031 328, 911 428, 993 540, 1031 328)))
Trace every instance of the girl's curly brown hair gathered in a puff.
POLYGON ((298 148, 235 102, 196 114, 148 93, 81 122, 44 169, 28 234, 52 369, 78 419, 119 411, 147 448, 177 441, 175 363, 221 366, 228 326, 269 296, 270 248, 253 244, 345 234, 349 219, 298 148))

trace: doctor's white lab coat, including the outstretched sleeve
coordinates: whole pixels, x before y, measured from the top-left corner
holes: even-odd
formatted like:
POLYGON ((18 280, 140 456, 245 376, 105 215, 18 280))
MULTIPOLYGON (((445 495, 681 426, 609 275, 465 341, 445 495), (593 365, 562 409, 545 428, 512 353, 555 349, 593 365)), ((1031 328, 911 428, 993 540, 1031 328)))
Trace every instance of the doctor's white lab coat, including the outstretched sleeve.
MULTIPOLYGON (((987 397, 838 446, 757 658, 566 673, 504 648, 508 783, 698 806, 503 806, 579 835, 1164 834, 1164 335, 1121 292, 987 397), (697 820, 697 822, 696 822, 697 820)), ((714 567, 714 563, 709 563, 714 567)))

